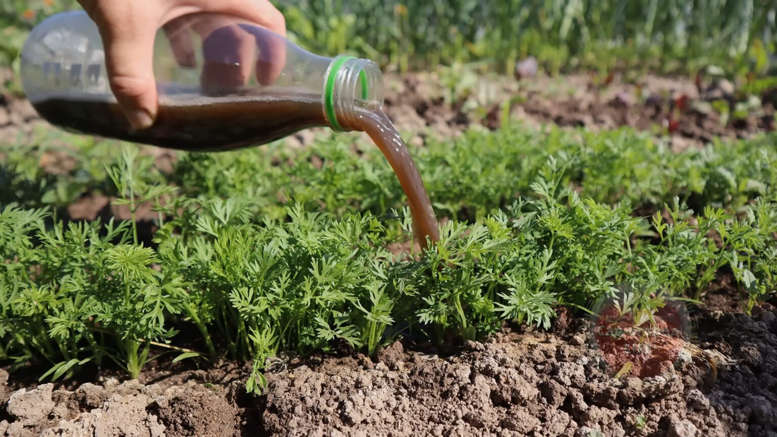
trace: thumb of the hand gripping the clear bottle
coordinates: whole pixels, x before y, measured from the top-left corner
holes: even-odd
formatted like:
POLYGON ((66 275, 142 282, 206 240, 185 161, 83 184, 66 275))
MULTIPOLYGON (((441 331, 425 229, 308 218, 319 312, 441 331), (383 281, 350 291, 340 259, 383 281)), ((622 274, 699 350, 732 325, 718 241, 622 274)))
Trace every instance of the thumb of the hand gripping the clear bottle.
POLYGON ((107 13, 96 11, 95 22, 105 47, 113 95, 130 124, 145 129, 157 114, 153 56, 158 20, 138 13, 138 8, 116 8, 118 5, 113 3, 107 13))

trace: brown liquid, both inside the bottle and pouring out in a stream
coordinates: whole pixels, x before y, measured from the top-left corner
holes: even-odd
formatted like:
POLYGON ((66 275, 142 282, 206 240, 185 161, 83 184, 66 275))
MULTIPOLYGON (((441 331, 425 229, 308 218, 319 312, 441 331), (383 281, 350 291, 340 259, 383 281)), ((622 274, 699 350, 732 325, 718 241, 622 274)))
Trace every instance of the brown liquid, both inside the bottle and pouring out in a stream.
MULTIPOLYGON (((189 152, 240 149, 272 142, 304 128, 326 126, 319 96, 278 99, 245 96, 214 103, 160 103, 155 124, 134 131, 115 103, 52 98, 33 102, 41 116, 68 131, 189 152)), ((421 247, 439 239, 426 188, 399 132, 382 110, 357 109, 357 130, 366 132, 392 166, 409 201, 413 233, 421 247)))

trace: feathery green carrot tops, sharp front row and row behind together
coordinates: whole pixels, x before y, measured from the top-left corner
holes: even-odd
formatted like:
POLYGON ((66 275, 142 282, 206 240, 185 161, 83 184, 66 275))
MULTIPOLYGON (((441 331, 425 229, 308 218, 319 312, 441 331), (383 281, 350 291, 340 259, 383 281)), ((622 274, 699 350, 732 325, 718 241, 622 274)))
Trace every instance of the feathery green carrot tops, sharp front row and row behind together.
MULTIPOLYGON (((372 151, 356 158, 346 138, 182 154, 169 175, 138 146, 82 145, 92 158, 50 186, 82 177, 133 216, 150 202, 159 229, 144 240, 138 221, 65 222, 53 201, 3 201, 0 358, 47 362, 44 378, 107 361, 138 376, 156 351, 248 359, 248 388, 260 390, 279 351, 344 341, 375 354, 397 336, 444 344, 505 320, 549 327, 555 306, 591 308, 624 289, 650 313, 666 296, 701 299, 722 273, 746 309, 775 291, 773 137, 678 154, 629 131, 430 142, 415 154, 438 212, 455 219, 417 257, 395 250, 410 223, 389 166, 372 151), (107 177, 92 180, 92 159, 109 152, 107 177), (653 211, 635 213, 639 202, 653 211), (476 214, 452 215, 462 206, 476 214)), ((39 171, 28 156, 7 154, 2 174, 39 171)), ((28 196, 13 189, 21 179, 9 191, 28 196)))

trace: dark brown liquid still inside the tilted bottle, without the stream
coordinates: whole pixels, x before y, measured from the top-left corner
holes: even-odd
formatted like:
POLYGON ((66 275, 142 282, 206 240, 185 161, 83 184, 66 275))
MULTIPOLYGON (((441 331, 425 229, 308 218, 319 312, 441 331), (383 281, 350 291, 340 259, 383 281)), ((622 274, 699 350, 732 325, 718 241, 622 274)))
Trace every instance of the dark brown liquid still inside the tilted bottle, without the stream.
POLYGON ((235 97, 228 103, 206 97, 160 103, 151 128, 131 128, 116 103, 48 99, 33 103, 51 124, 68 131, 156 145, 187 152, 216 152, 272 142, 310 126, 326 126, 321 100, 235 97))

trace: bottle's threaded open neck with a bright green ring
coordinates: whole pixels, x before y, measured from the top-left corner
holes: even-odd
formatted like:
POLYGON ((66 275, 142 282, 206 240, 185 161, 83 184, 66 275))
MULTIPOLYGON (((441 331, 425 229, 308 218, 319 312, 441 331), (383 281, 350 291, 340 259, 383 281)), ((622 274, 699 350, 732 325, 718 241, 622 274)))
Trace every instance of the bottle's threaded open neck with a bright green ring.
POLYGON ((324 80, 324 114, 333 131, 357 131, 359 113, 383 107, 383 76, 375 62, 340 55, 324 80))

